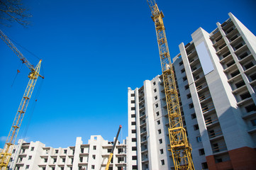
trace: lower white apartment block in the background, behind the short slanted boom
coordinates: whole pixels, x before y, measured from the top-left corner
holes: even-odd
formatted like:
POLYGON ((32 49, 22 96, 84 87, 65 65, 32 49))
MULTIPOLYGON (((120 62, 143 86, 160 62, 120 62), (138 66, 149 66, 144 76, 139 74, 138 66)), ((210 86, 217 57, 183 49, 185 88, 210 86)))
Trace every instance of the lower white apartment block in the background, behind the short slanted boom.
MULTIPOLYGON (((13 170, 87 170, 105 169, 113 142, 101 135, 91 136, 88 144, 77 137, 76 145, 67 148, 45 147, 41 142, 18 141, 9 169, 13 170)), ((117 142, 109 169, 126 169, 126 140, 117 142)))

